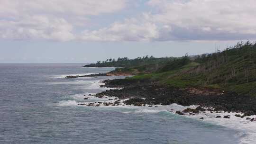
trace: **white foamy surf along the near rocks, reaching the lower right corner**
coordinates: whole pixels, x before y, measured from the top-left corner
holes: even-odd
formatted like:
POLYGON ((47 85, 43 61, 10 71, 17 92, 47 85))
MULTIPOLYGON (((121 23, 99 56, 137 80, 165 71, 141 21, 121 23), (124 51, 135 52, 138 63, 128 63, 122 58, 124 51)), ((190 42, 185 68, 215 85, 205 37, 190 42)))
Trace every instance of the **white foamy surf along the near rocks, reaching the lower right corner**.
MULTIPOLYGON (((123 100, 122 100, 123 101, 123 100)), ((113 101, 112 101, 113 102, 113 101)), ((102 105, 101 105, 102 106, 102 105)), ((119 105, 119 106, 108 106, 106 108, 128 108, 133 110, 125 110, 123 113, 159 113, 159 112, 170 112, 175 114, 176 111, 182 111, 186 108, 196 108, 197 106, 183 107, 178 104, 171 104, 168 106, 162 105, 154 105, 152 107, 148 107, 148 105, 144 107, 137 106, 127 106, 127 105, 119 105), (155 107, 156 106, 156 107, 155 107)), ((240 118, 235 117, 236 114, 243 115, 242 113, 228 113, 224 111, 220 111, 221 113, 211 113, 210 111, 200 112, 194 116, 185 115, 181 117, 189 117, 193 119, 197 119, 200 121, 208 122, 211 124, 225 126, 231 129, 238 130, 240 133, 237 135, 240 138, 239 144, 255 144, 256 141, 256 122, 251 122, 246 120, 246 117, 240 118), (224 116, 230 115, 230 118, 223 118, 224 116), (216 118, 216 116, 221 116, 221 118, 216 118), (200 118, 204 117, 203 120, 200 118)), ((249 116, 251 118, 255 118, 256 116, 249 116)))

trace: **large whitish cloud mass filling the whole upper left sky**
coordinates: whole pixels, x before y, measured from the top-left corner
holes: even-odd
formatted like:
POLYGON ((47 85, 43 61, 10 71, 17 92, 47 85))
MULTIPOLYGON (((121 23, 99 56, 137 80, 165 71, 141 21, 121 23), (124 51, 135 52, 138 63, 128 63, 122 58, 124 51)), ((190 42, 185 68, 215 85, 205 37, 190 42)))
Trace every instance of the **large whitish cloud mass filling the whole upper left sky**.
POLYGON ((126 0, 0 0, 0 38, 73 40, 88 16, 125 6, 126 0))

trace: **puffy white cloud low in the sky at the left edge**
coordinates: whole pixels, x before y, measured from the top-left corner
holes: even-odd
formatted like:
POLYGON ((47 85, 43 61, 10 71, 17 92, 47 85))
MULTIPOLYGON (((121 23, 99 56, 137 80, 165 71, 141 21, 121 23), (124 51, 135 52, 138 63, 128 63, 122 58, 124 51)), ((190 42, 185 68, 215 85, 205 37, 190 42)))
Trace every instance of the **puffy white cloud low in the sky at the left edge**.
POLYGON ((12 39, 72 40, 73 26, 64 18, 24 17, 19 21, 0 20, 0 37, 12 39))

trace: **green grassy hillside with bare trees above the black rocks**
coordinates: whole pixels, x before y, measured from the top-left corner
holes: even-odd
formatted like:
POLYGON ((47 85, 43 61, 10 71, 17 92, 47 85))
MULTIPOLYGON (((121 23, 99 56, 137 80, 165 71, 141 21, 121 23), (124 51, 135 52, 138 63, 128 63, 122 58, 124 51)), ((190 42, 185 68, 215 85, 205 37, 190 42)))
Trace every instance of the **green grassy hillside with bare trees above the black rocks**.
POLYGON ((151 73, 134 68, 141 73, 128 79, 150 79, 178 88, 213 87, 256 96, 255 44, 236 45, 221 53, 201 56, 186 63, 181 61, 160 64, 157 70, 152 65, 144 66, 147 70, 154 69, 151 73), (166 69, 166 65, 169 68, 166 69))

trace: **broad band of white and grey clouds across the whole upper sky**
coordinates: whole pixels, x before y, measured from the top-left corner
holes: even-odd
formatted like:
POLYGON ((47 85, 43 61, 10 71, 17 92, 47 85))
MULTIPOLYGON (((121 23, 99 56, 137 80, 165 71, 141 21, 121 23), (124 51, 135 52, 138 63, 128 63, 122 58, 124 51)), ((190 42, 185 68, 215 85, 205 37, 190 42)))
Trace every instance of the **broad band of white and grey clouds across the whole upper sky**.
POLYGON ((0 0, 0 38, 58 41, 255 39, 255 5, 255 0, 0 0), (130 3, 147 9, 124 10, 130 3), (122 10, 137 11, 137 16, 117 15, 122 10), (98 24, 95 17, 99 15, 112 19, 112 23, 98 24))

